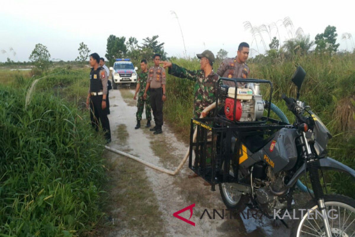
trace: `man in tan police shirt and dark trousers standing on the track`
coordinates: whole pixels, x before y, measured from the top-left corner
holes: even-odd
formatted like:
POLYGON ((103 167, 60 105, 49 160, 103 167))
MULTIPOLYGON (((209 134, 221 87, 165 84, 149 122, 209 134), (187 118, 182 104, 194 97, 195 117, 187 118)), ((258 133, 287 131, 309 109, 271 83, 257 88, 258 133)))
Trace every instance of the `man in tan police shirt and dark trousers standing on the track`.
POLYGON ((154 66, 148 70, 148 80, 143 98, 147 98, 147 91, 150 90, 151 107, 153 110, 155 126, 151 128, 154 134, 162 133, 163 126, 163 102, 165 96, 165 69, 159 66, 160 54, 153 55, 154 66))

